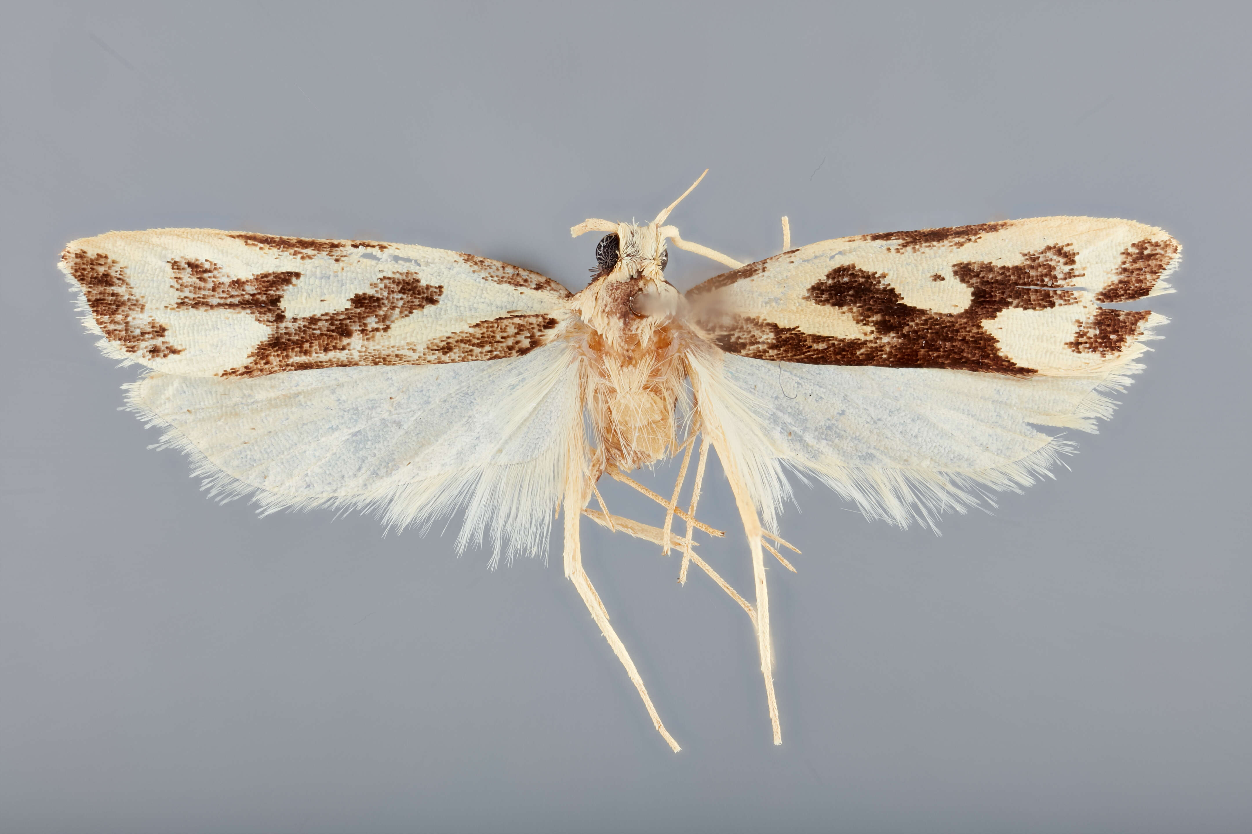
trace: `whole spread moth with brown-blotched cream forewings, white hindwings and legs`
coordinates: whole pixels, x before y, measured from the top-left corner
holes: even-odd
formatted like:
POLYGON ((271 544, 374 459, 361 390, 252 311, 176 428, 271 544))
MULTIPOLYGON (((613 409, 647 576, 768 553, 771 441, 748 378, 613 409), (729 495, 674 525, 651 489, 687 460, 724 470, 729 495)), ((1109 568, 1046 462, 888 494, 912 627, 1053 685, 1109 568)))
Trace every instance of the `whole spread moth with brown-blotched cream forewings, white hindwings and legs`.
POLYGON ((1171 291, 1181 249, 1094 218, 793 249, 784 218, 784 251, 745 265, 666 225, 691 189, 647 224, 573 226, 603 234, 575 294, 463 253, 208 229, 85 238, 59 265, 104 354, 146 369, 129 409, 212 495, 423 531, 463 510, 458 548, 490 544, 492 564, 546 553, 563 515, 565 575, 675 751, 587 575, 580 524, 677 551, 680 581, 695 565, 747 614, 780 744, 766 564, 795 570, 777 525, 788 475, 901 526, 1020 491, 1073 451, 1037 426, 1111 416, 1107 393, 1166 319, 1107 305, 1171 291), (670 246, 729 271, 680 294, 670 246), (722 535, 696 518, 710 449, 746 531, 747 594, 697 553, 697 530, 722 535), (670 456, 669 495, 629 474, 670 456), (613 515, 605 475, 654 499, 659 524, 613 515))

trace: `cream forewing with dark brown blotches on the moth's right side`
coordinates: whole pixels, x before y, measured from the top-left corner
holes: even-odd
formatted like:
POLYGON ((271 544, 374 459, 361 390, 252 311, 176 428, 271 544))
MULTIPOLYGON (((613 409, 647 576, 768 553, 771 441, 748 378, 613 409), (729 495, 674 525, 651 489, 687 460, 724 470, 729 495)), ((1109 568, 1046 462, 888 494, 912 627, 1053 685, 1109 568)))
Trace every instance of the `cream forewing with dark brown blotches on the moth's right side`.
POLYGON ((1171 291, 1179 253, 1129 220, 1005 220, 826 240, 687 298, 722 350, 754 359, 1099 375, 1138 355, 1154 324, 1102 304, 1171 291))

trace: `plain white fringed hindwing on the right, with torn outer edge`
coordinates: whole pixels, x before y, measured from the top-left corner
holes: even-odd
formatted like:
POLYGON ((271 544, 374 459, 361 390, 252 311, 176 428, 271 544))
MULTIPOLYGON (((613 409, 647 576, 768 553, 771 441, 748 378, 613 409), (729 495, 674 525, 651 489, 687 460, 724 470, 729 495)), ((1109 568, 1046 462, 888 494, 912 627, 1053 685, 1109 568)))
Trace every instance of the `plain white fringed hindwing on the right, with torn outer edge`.
POLYGON ((1014 378, 928 368, 844 368, 726 356, 730 390, 750 404, 775 460, 816 476, 863 513, 931 528, 980 488, 1019 490, 1073 444, 1039 431, 1094 431, 1101 394, 1124 376, 1014 378))

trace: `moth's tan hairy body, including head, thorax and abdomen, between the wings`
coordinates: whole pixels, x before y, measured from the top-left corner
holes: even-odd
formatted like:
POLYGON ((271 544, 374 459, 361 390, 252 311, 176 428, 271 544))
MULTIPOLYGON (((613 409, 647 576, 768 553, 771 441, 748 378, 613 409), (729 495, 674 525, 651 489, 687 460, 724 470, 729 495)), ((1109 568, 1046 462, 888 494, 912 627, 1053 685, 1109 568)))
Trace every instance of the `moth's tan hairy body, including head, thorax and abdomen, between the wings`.
POLYGON ((600 270, 570 305, 581 320, 570 335, 585 358, 591 419, 602 466, 630 471, 662 459, 675 436, 684 385, 682 296, 662 274, 656 224, 620 224, 596 250, 600 270))

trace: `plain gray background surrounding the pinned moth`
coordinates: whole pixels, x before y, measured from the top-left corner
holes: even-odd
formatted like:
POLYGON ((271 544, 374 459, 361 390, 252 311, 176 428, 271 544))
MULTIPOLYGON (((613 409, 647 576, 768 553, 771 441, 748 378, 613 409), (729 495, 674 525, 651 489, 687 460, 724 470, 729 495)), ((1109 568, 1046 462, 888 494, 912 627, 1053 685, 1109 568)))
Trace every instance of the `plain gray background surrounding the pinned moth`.
MULTIPOLYGON (((4 831, 1252 828, 1248 15, 1234 6, 6 5, 4 831), (578 289, 586 216, 751 260, 1053 214, 1186 246, 1072 471, 944 535, 798 490, 785 744, 742 611, 585 524, 669 751, 558 554, 197 491, 54 268, 213 226, 477 253, 578 289)), ((676 254, 681 288, 719 271, 676 254)), ((667 484, 674 469, 659 470, 667 484)), ((720 470, 706 555, 749 564, 720 470)), ((656 513, 617 485, 616 511, 656 513)))

